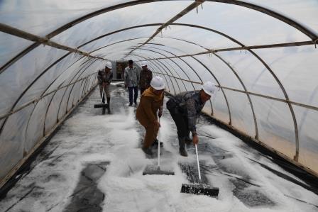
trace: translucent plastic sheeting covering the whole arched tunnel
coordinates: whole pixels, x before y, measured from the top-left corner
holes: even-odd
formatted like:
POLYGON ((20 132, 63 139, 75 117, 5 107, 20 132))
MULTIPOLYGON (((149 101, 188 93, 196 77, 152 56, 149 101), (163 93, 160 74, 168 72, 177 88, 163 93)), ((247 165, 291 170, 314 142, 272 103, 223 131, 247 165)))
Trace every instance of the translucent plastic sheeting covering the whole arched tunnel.
MULTIPOLYGON (((297 148, 296 121, 299 162, 318 174, 317 111, 283 102, 288 99, 318 106, 318 51, 314 45, 150 60, 311 40, 305 33, 253 9, 204 1, 198 13, 196 9, 189 11, 129 54, 193 2, 5 0, 0 3, 0 20, 18 30, 45 37, 77 18, 107 11, 73 23, 50 40, 72 48, 82 46, 79 50, 113 62, 133 59, 140 65, 141 60, 149 60, 148 67, 164 78, 166 91, 171 94, 199 89, 200 83, 212 81, 221 89, 212 97, 212 108, 207 104, 204 111, 211 113, 213 109, 215 118, 225 123, 231 121, 231 125, 252 138, 256 135, 255 118, 258 140, 290 160, 297 148), (92 41, 94 38, 99 39, 92 41), (251 101, 245 91, 252 93, 251 101)), ((263 6, 300 23, 312 34, 318 32, 316 0, 240 2, 263 6)), ((0 72, 0 114, 7 115, 29 104, 0 119, 0 180, 92 89, 97 71, 104 67, 103 60, 42 44, 12 60, 31 44, 29 40, 0 33, 0 67, 13 61, 0 72), (33 100, 36 101, 30 104, 33 100)))

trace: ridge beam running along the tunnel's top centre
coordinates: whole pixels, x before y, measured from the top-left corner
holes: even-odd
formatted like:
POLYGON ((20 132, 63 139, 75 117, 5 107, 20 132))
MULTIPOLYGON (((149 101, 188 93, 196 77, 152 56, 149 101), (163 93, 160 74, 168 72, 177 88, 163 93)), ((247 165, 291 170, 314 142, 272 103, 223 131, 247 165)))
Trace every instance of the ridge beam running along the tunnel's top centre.
MULTIPOLYGON (((192 11, 192 9, 197 8, 197 6, 199 6, 200 4, 203 4, 205 0, 195 0, 192 4, 190 4, 189 6, 187 6, 184 10, 182 10, 180 13, 177 13, 177 15, 175 15, 173 18, 171 18, 169 21, 167 21, 166 23, 163 23, 162 26, 160 26, 153 35, 150 36, 150 38, 148 40, 146 40, 145 43, 139 45, 138 47, 134 48, 133 50, 131 50, 128 55, 131 54, 131 52, 133 52, 134 50, 141 48, 143 45, 145 45, 146 43, 148 43, 150 40, 153 40, 153 38, 155 38, 155 35, 158 35, 164 28, 168 27, 171 23, 177 21, 177 19, 181 18, 182 16, 185 16, 185 14, 189 13, 190 11, 192 11)), ((128 56, 126 55, 126 57, 128 56)))

